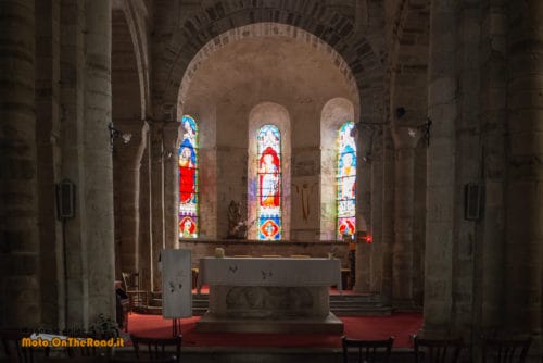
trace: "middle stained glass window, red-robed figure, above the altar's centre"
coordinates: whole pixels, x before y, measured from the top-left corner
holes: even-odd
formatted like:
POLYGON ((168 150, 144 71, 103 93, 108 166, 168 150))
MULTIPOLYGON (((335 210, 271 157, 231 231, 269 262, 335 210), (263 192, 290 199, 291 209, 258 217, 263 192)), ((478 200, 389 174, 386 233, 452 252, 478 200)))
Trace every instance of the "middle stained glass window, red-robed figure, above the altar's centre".
POLYGON ((258 239, 281 239, 281 134, 274 125, 257 133, 258 239))

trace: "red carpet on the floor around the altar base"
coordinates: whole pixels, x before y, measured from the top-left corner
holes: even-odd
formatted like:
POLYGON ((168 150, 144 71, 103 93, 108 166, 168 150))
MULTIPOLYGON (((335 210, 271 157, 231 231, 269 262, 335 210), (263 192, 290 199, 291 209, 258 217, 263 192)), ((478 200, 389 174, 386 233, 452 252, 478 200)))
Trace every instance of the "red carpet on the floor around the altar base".
MULTIPOLYGON (((189 347, 341 347, 340 335, 327 334, 212 334, 194 331, 200 316, 181 320, 182 343, 189 347)), ((382 339, 394 336, 394 347, 411 347, 409 335, 422 324, 418 313, 400 313, 391 316, 339 316, 344 323, 344 334, 357 339, 382 339)), ((129 333, 149 337, 172 335, 172 321, 161 315, 129 315, 129 333)))

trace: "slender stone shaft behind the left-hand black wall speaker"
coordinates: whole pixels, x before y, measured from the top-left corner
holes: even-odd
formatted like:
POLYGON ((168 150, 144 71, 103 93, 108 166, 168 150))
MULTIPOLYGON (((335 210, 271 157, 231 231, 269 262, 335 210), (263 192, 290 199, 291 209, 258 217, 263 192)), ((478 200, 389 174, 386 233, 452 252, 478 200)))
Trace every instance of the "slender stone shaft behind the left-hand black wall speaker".
MULTIPOLYGON (((62 177, 75 184, 75 216, 63 225, 63 278, 60 300, 68 327, 86 327, 88 322, 88 261, 86 260, 86 182, 84 163, 84 4, 61 2, 61 147, 62 177)), ((108 139, 108 136, 104 136, 108 139)), ((109 146, 108 146, 109 148, 109 146)))

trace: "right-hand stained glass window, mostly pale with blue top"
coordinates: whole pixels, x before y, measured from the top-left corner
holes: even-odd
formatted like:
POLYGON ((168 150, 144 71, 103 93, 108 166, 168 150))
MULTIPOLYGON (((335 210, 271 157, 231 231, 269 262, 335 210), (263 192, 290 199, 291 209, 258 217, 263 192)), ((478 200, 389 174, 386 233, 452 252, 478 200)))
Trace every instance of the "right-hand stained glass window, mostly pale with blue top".
POLYGON ((351 136, 353 122, 342 124, 338 130, 337 206, 338 239, 353 236, 356 226, 356 145, 351 136))

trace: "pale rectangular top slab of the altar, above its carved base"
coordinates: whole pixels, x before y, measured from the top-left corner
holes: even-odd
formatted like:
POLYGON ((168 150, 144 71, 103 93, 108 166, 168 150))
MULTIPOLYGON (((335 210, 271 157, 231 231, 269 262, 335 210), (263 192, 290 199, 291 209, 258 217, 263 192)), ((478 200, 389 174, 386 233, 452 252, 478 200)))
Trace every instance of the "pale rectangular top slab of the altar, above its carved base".
POLYGON ((332 286, 341 289, 341 260, 285 258, 200 259, 198 288, 224 286, 332 286))

